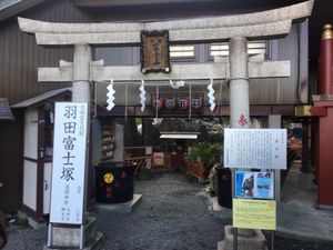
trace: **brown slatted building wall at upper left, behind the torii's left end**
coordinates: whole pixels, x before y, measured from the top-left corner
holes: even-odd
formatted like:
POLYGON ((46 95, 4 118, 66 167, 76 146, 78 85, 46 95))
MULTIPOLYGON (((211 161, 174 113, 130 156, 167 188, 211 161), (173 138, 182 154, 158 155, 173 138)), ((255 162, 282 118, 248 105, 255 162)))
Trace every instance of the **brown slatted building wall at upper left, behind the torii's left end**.
MULTIPOLYGON (((50 0, 19 17, 54 22, 88 22, 89 16, 69 0, 50 0)), ((17 16, 0 22, 0 96, 11 104, 47 90, 64 87, 59 83, 38 83, 38 67, 56 67, 59 59, 72 61, 72 48, 42 48, 34 36, 19 30, 17 16)))

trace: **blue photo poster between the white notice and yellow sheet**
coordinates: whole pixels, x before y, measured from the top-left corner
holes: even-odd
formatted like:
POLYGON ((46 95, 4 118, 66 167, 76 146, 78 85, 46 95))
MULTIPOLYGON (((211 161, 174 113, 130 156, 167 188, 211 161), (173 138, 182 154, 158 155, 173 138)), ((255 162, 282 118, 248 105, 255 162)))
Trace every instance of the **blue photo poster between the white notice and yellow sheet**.
POLYGON ((249 199, 273 199, 274 172, 236 171, 235 197, 249 199))

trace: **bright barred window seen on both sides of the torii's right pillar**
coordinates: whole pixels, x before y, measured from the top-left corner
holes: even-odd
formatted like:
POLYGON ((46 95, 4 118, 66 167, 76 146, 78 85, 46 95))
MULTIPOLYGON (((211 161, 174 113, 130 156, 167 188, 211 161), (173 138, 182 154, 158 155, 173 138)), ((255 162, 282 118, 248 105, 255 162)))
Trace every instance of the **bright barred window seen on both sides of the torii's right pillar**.
MULTIPOLYGON (((250 41, 248 42, 248 53, 249 54, 260 54, 266 53, 266 42, 265 41, 250 41)), ((210 44, 210 51, 209 51, 210 58, 213 57, 226 57, 229 56, 229 43, 212 43, 210 44)))

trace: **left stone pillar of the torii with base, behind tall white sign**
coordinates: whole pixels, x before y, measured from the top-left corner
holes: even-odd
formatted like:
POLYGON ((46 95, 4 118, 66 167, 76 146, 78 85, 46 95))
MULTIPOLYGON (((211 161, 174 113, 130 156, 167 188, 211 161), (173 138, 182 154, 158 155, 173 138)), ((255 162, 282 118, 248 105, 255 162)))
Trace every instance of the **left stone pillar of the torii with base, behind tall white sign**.
MULTIPOLYGON (((73 102, 87 102, 88 103, 88 131, 87 131, 87 149, 89 150, 90 138, 90 64, 91 64, 91 47, 89 44, 74 44, 73 50, 73 63, 72 63, 72 101, 73 102)), ((88 161, 89 153, 85 153, 85 167, 84 167, 84 204, 83 214, 85 213, 87 200, 88 200, 88 161)), ((83 226, 81 229, 67 228, 65 226, 57 226, 49 228, 48 246, 44 249, 57 249, 57 247, 73 248, 74 249, 99 249, 102 240, 102 233, 95 232, 95 219, 92 217, 83 216, 83 226), (83 233, 83 236, 82 236, 83 233), (89 244, 87 246, 87 243, 89 244)))

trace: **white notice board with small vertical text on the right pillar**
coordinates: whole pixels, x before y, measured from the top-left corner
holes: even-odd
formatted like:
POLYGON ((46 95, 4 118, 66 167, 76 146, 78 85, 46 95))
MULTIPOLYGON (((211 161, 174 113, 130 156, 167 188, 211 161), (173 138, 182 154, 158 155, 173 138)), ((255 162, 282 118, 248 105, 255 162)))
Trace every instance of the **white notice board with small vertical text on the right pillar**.
POLYGON ((225 129, 224 167, 286 169, 286 129, 225 129))

